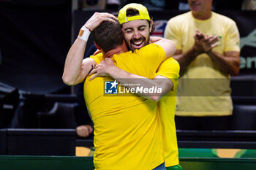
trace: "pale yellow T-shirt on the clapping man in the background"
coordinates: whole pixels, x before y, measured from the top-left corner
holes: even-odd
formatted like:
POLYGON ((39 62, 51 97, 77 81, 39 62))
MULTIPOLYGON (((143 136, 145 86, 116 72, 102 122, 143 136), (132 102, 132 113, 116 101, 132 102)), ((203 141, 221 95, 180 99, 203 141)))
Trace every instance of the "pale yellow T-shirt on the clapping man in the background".
MULTIPOLYGON (((223 55, 227 51, 240 51, 236 23, 215 12, 208 20, 197 20, 192 12, 171 18, 165 28, 165 38, 172 39, 176 49, 186 53, 194 45, 196 28, 203 34, 219 36, 219 45, 213 49, 217 53, 223 55)), ((220 72, 206 53, 200 54, 180 77, 176 115, 231 115, 230 93, 230 75, 220 72)))

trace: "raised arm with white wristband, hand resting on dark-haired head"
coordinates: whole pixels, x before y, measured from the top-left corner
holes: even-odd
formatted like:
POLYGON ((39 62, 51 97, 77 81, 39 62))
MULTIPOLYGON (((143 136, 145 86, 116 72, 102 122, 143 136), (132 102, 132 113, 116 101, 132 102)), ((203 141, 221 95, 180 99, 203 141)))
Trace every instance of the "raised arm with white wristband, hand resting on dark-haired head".
POLYGON ((105 12, 95 12, 94 15, 86 21, 83 27, 80 29, 78 38, 75 40, 74 44, 67 54, 67 58, 64 66, 64 73, 62 75, 62 80, 67 85, 76 85, 86 78, 87 74, 91 69, 91 64, 96 64, 95 61, 84 60, 83 55, 86 50, 86 44, 89 39, 91 31, 94 31, 103 20, 108 20, 110 22, 116 22, 113 20, 116 18, 112 14, 105 12))

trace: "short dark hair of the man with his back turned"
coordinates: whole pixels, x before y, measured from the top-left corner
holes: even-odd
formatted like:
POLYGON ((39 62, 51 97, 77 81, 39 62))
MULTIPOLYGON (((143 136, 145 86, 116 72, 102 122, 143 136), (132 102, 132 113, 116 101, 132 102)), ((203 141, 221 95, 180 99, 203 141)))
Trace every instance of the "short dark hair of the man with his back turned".
POLYGON ((121 31, 118 20, 116 20, 116 22, 108 20, 102 21, 94 31, 91 31, 91 35, 97 45, 99 45, 105 53, 109 50, 113 50, 118 45, 122 45, 124 41, 123 32, 121 31))

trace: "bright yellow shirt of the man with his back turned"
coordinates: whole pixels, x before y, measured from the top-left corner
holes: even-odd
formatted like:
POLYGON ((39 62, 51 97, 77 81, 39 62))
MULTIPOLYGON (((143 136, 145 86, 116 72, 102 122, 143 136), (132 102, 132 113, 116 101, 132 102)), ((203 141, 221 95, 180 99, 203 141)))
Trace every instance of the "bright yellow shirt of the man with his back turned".
MULTIPOLYGON (((162 47, 154 44, 134 53, 113 55, 119 68, 149 78, 165 58, 162 47)), ((157 103, 136 94, 105 94, 106 82, 114 80, 89 78, 84 96, 94 122, 95 169, 148 170, 161 164, 164 159, 157 103)))

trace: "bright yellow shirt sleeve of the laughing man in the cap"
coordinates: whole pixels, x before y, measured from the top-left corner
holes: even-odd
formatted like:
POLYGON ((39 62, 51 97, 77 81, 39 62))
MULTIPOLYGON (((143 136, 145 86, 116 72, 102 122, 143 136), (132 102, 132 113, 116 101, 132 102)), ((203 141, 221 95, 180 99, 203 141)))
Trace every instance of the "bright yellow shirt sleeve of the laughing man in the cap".
POLYGON ((179 77, 180 66, 178 61, 173 58, 168 58, 161 63, 157 70, 155 76, 163 76, 173 82, 173 90, 176 90, 178 87, 178 77, 179 77))

